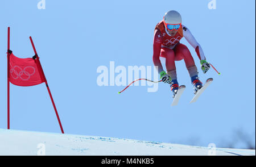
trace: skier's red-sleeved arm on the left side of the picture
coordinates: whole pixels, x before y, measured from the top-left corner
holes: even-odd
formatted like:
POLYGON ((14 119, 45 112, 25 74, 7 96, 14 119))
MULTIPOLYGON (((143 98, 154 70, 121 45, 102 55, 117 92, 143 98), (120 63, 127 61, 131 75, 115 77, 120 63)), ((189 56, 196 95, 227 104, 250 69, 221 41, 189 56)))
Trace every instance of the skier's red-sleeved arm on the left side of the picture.
POLYGON ((153 62, 155 66, 158 66, 158 73, 163 71, 163 66, 159 59, 162 44, 162 35, 159 30, 155 30, 154 33, 154 44, 153 44, 153 62))

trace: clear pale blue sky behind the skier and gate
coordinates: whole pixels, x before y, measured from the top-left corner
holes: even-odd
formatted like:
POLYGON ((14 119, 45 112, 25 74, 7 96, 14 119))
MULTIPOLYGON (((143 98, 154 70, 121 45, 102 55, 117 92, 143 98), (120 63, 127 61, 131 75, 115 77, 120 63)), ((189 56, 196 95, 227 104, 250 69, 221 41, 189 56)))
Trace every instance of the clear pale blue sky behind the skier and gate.
MULTIPOLYGON (((49 1, 0 2, 0 128, 7 127, 7 27, 18 57, 38 51, 66 133, 109 136, 207 146, 234 140, 240 129, 255 143, 255 1, 49 1), (155 25, 168 10, 177 10, 220 72, 200 70, 200 61, 185 39, 201 81, 213 77, 199 101, 189 104, 192 85, 184 61, 176 62, 180 84, 187 86, 171 107, 169 86, 98 86, 98 66, 152 66, 155 25)), ((11 128, 60 132, 46 86, 10 86, 11 128)), ((235 147, 244 147, 237 144, 235 147)))

